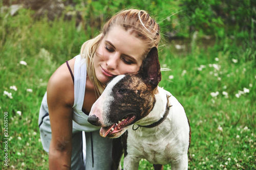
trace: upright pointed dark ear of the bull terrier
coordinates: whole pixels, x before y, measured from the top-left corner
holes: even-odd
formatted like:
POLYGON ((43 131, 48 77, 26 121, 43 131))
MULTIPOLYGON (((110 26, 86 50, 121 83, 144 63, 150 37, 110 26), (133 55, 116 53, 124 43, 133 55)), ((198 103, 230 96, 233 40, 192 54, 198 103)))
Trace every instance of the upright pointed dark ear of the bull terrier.
POLYGON ((148 87, 154 89, 158 86, 161 81, 161 71, 157 47, 153 47, 147 54, 139 73, 148 87))

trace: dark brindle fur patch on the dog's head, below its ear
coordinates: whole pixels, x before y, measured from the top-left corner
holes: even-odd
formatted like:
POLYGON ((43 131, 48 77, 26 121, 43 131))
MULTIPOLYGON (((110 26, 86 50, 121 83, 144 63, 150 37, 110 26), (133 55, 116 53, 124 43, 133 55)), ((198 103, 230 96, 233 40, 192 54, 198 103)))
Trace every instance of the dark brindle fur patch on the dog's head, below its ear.
POLYGON ((154 92, 146 86, 138 74, 127 74, 112 89, 114 98, 108 119, 114 124, 127 115, 135 115, 137 122, 145 117, 155 105, 154 92))

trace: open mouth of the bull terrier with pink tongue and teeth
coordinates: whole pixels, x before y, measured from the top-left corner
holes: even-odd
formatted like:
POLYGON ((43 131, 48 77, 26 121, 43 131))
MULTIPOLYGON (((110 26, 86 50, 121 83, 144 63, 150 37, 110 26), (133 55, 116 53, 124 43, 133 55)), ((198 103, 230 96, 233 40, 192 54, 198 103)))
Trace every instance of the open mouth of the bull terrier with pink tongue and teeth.
POLYGON ((135 114, 126 115, 118 123, 113 124, 109 127, 101 127, 100 128, 100 136, 102 137, 114 137, 117 133, 121 132, 124 127, 131 125, 136 116, 135 114))

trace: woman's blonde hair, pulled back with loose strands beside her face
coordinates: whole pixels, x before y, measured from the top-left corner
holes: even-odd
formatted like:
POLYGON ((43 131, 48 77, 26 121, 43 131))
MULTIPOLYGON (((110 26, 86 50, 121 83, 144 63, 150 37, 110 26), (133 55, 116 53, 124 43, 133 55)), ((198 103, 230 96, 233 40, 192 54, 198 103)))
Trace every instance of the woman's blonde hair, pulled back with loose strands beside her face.
POLYGON ((160 41, 159 25, 153 18, 150 17, 150 14, 144 10, 122 10, 107 21, 102 28, 102 33, 95 38, 84 42, 80 51, 81 57, 86 59, 87 74, 89 79, 100 94, 103 92, 105 84, 101 83, 96 78, 93 57, 97 51, 101 39, 113 26, 121 26, 126 31, 132 30, 131 33, 135 37, 142 39, 143 42, 147 44, 147 49, 142 56, 143 59, 146 57, 147 53, 152 47, 158 47, 160 41))

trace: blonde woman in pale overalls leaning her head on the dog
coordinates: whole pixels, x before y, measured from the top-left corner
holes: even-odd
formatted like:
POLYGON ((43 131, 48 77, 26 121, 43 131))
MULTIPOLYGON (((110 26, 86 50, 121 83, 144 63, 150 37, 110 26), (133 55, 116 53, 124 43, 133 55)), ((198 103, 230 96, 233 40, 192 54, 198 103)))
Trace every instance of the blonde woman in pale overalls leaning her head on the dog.
POLYGON ((54 72, 38 120, 50 169, 110 169, 112 139, 99 135, 99 128, 87 122, 88 114, 105 84, 116 75, 139 71, 159 41, 159 26, 149 14, 124 10, 105 23, 101 34, 83 43, 80 55, 54 72))

